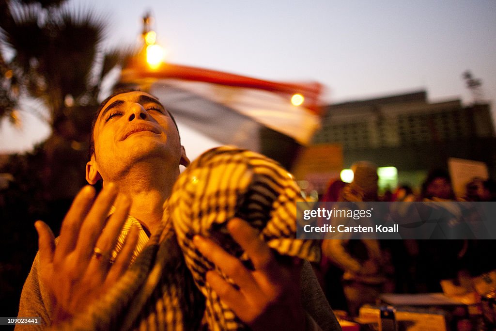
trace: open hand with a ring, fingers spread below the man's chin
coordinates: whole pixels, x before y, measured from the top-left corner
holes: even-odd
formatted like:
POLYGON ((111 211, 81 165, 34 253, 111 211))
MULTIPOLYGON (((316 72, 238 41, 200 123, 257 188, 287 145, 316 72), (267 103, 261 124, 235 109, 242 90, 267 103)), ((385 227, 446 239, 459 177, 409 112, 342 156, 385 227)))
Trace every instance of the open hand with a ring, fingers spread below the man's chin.
POLYGON ((88 305, 111 287, 130 264, 138 239, 132 227, 124 248, 111 263, 112 251, 127 218, 131 200, 121 196, 110 183, 95 199, 95 190, 84 187, 76 196, 63 222, 59 242, 50 227, 35 223, 39 241, 39 274, 50 292, 57 324, 84 311, 88 305), (110 208, 116 210, 107 220, 110 208))

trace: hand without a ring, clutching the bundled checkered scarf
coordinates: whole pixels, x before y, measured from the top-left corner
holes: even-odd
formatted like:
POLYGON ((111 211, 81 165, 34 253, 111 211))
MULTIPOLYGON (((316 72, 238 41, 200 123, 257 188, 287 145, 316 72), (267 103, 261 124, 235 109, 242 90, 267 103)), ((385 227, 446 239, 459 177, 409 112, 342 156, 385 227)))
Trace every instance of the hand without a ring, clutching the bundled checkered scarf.
POLYGON ((239 218, 230 220, 227 227, 248 254, 254 270, 248 270, 214 242, 195 236, 193 243, 201 254, 230 276, 239 289, 216 271, 207 272, 207 282, 253 330, 305 330, 300 296, 301 260, 278 262, 258 237, 258 231, 239 218))

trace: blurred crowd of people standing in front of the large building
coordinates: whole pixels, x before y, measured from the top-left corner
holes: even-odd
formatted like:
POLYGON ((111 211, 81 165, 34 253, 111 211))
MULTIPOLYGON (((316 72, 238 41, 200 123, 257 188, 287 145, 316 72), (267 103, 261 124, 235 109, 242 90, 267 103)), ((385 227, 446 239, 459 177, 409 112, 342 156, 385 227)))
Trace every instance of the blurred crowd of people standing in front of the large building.
MULTIPOLYGON (((492 179, 474 177, 456 197, 449 173, 434 169, 418 192, 400 185, 379 196, 374 164, 357 162, 352 170, 351 183, 331 180, 320 201, 496 201, 492 179)), ((382 293, 482 295, 496 286, 495 251, 493 240, 327 239, 314 268, 331 306, 357 316, 382 293)))

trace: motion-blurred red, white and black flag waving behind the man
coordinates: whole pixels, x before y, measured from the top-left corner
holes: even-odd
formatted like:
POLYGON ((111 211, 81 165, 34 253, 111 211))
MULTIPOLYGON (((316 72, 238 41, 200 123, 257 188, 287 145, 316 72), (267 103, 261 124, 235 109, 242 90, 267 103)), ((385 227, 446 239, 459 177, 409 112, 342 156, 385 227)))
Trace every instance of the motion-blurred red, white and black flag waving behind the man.
POLYGON ((306 145, 320 124, 322 86, 316 82, 282 83, 163 64, 154 70, 136 65, 124 68, 120 83, 157 96, 179 122, 198 132, 262 153, 268 146, 284 154, 283 145, 274 146, 284 136, 295 146, 306 145), (301 105, 294 105, 292 99, 301 105), (271 137, 276 139, 268 141, 271 137))

